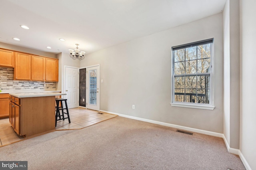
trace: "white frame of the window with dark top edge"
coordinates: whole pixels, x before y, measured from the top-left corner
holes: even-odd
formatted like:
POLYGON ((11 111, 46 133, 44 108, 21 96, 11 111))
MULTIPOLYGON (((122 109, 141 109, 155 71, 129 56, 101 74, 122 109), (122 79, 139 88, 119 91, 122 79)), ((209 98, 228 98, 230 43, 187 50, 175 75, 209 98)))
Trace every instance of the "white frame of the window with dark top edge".
MULTIPOLYGON (((199 42, 193 42, 193 43, 188 43, 184 45, 178 45, 175 47, 172 47, 172 100, 171 100, 171 105, 174 107, 188 107, 188 108, 195 108, 195 109, 207 109, 207 110, 213 110, 214 109, 214 87, 213 87, 213 73, 214 73, 214 39, 208 39, 208 40, 203 40, 199 42), (212 42, 210 42, 212 41, 212 42), (186 47, 192 47, 192 46, 197 46, 197 45, 202 45, 206 44, 209 42, 210 45, 210 50, 211 50, 211 57, 210 57, 210 73, 207 73, 210 75, 210 100, 209 104, 204 104, 204 103, 190 103, 190 102, 178 102, 174 101, 174 51, 177 48, 186 48, 186 47), (173 50, 174 49, 174 50, 173 50)), ((184 75, 200 75, 202 73, 195 73, 195 74, 184 74, 184 75)))

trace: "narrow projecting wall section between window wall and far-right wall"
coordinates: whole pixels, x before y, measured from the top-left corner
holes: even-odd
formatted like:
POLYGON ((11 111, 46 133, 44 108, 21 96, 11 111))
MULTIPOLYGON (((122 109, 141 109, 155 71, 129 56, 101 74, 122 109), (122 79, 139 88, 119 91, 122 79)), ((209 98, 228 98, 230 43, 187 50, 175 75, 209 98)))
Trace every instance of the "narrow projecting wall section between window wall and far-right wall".
POLYGON ((227 0, 223 11, 224 135, 231 148, 239 149, 240 50, 239 0, 227 0))

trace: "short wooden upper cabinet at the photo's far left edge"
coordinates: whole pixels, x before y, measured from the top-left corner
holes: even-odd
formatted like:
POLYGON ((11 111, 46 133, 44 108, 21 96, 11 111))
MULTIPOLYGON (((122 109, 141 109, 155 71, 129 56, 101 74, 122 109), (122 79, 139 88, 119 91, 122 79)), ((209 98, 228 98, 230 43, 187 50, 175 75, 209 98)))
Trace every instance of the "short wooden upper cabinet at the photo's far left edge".
POLYGON ((0 67, 14 67, 14 52, 0 49, 0 67))

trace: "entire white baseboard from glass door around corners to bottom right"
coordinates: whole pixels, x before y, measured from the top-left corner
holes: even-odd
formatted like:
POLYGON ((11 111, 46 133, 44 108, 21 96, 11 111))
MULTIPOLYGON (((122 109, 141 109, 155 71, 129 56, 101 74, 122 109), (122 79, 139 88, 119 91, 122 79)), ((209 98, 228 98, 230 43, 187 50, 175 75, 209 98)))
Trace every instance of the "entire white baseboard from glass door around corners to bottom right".
POLYGON ((239 149, 230 148, 230 146, 228 144, 228 141, 226 140, 225 135, 222 134, 222 133, 216 133, 216 132, 201 130, 201 129, 197 129, 197 128, 184 127, 184 126, 180 126, 180 125, 173 125, 173 124, 170 124, 170 123, 164 123, 164 122, 159 122, 159 121, 152 121, 150 119, 143 119, 143 118, 139 118, 139 117, 133 117, 133 116, 123 115, 123 114, 109 112, 109 111, 103 111, 103 110, 100 110, 100 111, 105 112, 105 113, 110 113, 110 114, 113 114, 113 115, 118 115, 120 117, 127 117, 127 118, 130 118, 130 119, 135 119, 135 120, 138 120, 138 121, 144 121, 144 122, 154 123, 154 124, 157 124, 157 125, 163 125, 163 126, 167 126, 167 127, 178 128, 178 129, 182 129, 182 130, 188 130, 188 131, 191 131, 191 132, 197 132, 197 133, 202 133, 202 134, 207 134, 207 135, 210 135, 210 136, 216 136, 216 137, 223 138, 228 152, 232 153, 232 154, 239 155, 239 157, 242 160, 246 170, 252 170, 250 168, 248 162, 244 158, 242 152, 239 149))

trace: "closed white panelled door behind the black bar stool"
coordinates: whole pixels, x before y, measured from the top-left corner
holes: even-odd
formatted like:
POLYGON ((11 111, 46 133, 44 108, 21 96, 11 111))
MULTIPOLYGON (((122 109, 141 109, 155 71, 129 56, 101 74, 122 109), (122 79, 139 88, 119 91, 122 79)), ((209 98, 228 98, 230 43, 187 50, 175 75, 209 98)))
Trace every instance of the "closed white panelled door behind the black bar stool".
POLYGON ((78 83, 79 83, 79 69, 66 67, 65 70, 65 96, 68 104, 68 108, 78 107, 78 83))

